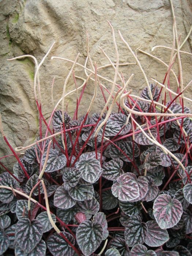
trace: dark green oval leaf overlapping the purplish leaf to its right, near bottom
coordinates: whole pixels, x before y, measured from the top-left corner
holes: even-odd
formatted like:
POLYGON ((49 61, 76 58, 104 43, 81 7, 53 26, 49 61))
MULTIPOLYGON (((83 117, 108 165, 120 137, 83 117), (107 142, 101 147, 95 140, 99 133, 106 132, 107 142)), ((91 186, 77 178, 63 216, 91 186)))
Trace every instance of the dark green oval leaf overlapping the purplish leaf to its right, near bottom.
POLYGON ((141 218, 138 215, 130 217, 125 227, 126 244, 131 247, 136 244, 143 244, 147 231, 146 223, 141 222, 141 218))

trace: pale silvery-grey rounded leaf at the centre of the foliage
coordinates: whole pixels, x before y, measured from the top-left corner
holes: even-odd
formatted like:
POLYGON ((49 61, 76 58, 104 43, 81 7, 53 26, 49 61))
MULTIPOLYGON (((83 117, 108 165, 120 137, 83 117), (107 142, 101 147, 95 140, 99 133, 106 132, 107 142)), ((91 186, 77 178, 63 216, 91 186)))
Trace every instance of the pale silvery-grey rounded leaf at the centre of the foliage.
POLYGON ((88 182, 94 182, 101 175, 101 165, 97 159, 81 159, 77 168, 82 172, 82 178, 88 182))

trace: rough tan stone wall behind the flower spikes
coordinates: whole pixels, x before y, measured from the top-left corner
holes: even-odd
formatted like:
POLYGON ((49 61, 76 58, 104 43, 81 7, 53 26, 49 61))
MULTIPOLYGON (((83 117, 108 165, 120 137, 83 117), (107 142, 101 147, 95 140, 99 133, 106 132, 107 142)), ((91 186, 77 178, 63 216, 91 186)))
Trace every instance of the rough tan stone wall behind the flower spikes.
MULTIPOLYGON (((192 24, 191 0, 174 0, 174 10, 181 41, 186 37, 192 24)), ((52 110, 50 87, 54 76, 54 102, 61 97, 65 77, 71 63, 51 60, 51 56, 60 56, 75 60, 81 53, 79 63, 86 58, 86 30, 90 35, 90 54, 97 66, 108 64, 98 46, 101 46, 115 62, 112 34, 107 23, 109 20, 115 30, 120 62, 133 62, 133 57, 118 36, 121 31, 132 49, 142 47, 151 52, 155 45, 172 46, 172 13, 168 0, 0 0, 0 110, 4 131, 13 147, 25 146, 37 136, 38 116, 33 95, 34 64, 30 59, 7 61, 8 58, 23 54, 32 54, 40 61, 53 41, 54 48, 40 70, 43 113, 48 118, 52 110)), ((182 48, 192 51, 192 35, 182 48)), ((156 49, 155 56, 169 63, 170 50, 156 49)), ((158 61, 138 52, 139 60, 148 79, 163 81, 166 67, 158 61)), ((184 85, 191 80, 191 56, 181 54, 183 63, 184 85)), ((89 67, 89 65, 88 65, 89 67)), ((129 88, 139 94, 145 87, 144 78, 136 65, 121 68, 125 80, 135 74, 129 88)), ((83 69, 76 67, 75 74, 83 76, 83 69)), ((101 71, 113 80, 113 68, 101 71)), ((176 88, 171 79, 171 88, 176 88)), ((77 81, 80 84, 80 80, 77 81)), ((106 87, 110 84, 101 81, 106 87)), ((151 81, 150 81, 151 82, 151 81)), ((74 88, 71 79, 67 90, 74 88)), ((82 99, 80 113, 85 113, 92 97, 94 84, 89 83, 82 99)), ((191 95, 191 89, 188 90, 191 95)), ((68 112, 75 109, 76 95, 67 99, 68 112)), ((66 101, 66 102, 67 102, 66 101)), ((101 94, 95 101, 93 110, 103 107, 101 94)), ((10 154, 3 139, 0 139, 0 157, 10 154)), ((3 161, 12 165, 12 158, 3 161)))

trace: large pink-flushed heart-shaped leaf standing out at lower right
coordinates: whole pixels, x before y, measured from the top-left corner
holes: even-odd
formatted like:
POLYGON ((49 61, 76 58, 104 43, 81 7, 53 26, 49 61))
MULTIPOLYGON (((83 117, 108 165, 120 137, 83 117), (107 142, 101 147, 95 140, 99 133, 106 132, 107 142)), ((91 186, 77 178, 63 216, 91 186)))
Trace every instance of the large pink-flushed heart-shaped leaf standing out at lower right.
POLYGON ((169 195, 158 196, 153 204, 154 217, 159 227, 169 229, 175 226, 182 215, 182 205, 169 195))

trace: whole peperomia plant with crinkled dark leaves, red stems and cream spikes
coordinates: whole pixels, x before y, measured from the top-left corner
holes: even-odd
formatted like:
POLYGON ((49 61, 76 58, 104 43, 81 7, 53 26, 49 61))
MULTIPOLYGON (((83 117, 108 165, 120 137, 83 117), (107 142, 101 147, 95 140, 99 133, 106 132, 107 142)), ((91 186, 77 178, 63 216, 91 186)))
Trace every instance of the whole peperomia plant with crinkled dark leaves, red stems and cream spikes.
POLYGON ((0 118, 3 138, 17 160, 10 171, 1 159, 12 155, 0 158, 5 169, 0 174, 0 255, 192 254, 192 114, 184 107, 184 99, 192 101, 184 97, 192 81, 184 87, 181 65, 179 78, 172 69, 176 56, 180 63, 183 45, 178 41, 175 19, 172 54, 163 83, 149 84, 138 57, 119 33, 146 79, 147 87, 140 97, 127 91, 133 75, 125 82, 118 71, 121 64, 110 27, 116 49, 116 63, 108 57, 114 68, 113 80, 99 75, 99 70, 109 65, 93 64, 87 34, 86 64, 89 60, 92 69, 80 65, 78 56, 71 61, 62 97, 48 122, 42 113, 38 71, 52 47, 40 64, 30 55, 14 58, 35 61, 39 137, 33 144, 14 150, 0 118), (84 68, 86 79, 75 76, 75 65, 84 68), (178 84, 177 93, 169 87, 170 71, 178 84), (76 89, 66 93, 72 73, 76 89), (76 79, 83 84, 77 87, 76 79), (87 113, 79 117, 79 104, 91 79, 93 99, 87 113), (110 92, 101 79, 112 83, 110 92), (105 106, 101 113, 90 114, 98 83, 105 106), (65 111, 64 102, 71 93, 77 95, 73 117, 65 111), (108 99, 105 93, 109 93, 108 99), (61 110, 57 110, 59 103, 61 110), (118 110, 113 112, 116 103, 118 110))

